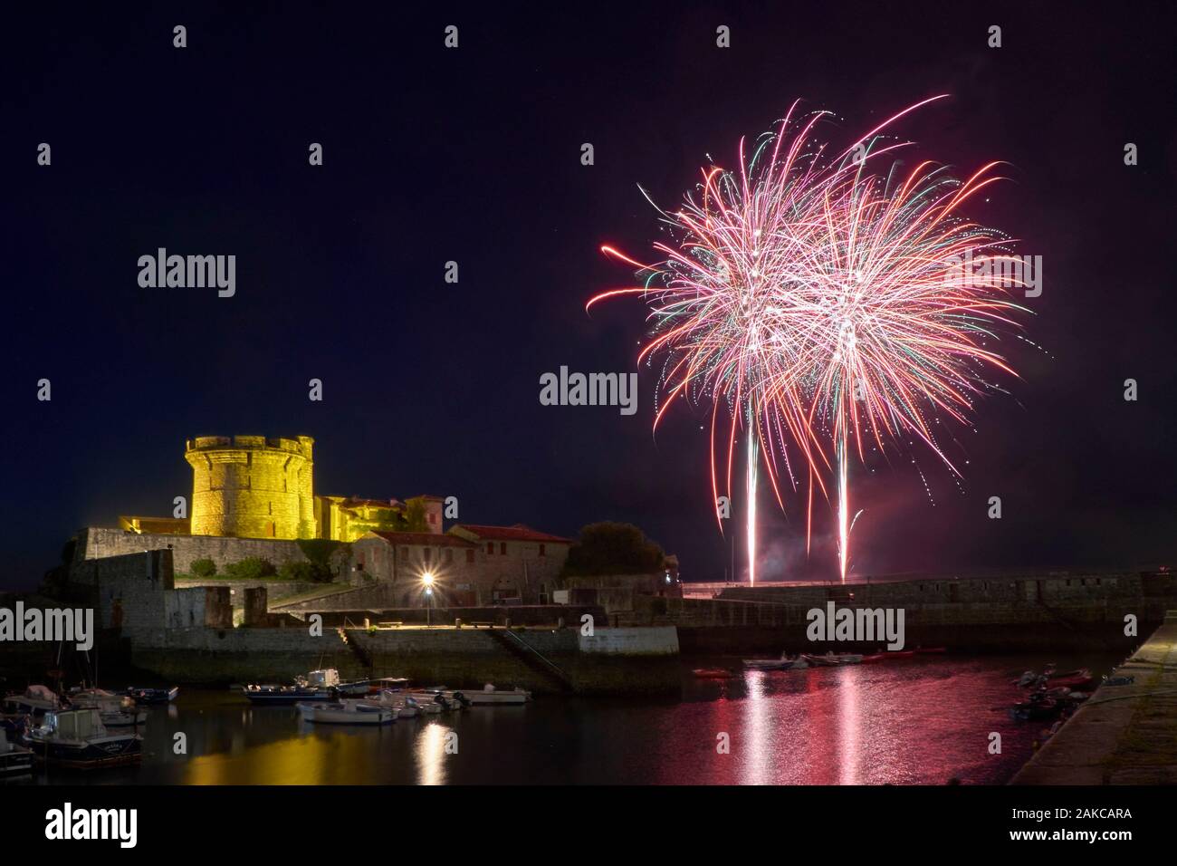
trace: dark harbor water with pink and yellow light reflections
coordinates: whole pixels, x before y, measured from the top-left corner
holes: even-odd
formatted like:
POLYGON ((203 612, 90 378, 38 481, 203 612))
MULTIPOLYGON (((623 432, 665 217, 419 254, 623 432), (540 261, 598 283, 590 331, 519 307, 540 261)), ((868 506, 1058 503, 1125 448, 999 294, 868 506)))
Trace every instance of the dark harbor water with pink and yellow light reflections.
POLYGON ((40 768, 26 784, 1004 784, 1049 726, 1010 718, 1024 696, 1012 680, 1051 661, 1098 677, 1119 659, 932 655, 786 672, 692 660, 681 700, 540 698, 354 728, 181 688, 151 708, 141 766, 40 768), (734 676, 691 673, 716 666, 734 676))

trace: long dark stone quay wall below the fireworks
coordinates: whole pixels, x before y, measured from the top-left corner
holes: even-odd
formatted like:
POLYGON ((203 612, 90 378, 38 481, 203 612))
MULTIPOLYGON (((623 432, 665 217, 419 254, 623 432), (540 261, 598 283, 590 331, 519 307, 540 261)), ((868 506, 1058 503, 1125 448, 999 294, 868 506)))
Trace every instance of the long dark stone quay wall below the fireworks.
POLYGON ((614 626, 673 624, 684 654, 873 650, 869 643, 811 642, 807 613, 840 608, 902 608, 909 647, 960 652, 1129 652, 1125 616, 1138 634, 1177 607, 1177 586, 1164 575, 1084 574, 1015 580, 923 580, 876 584, 730 588, 717 599, 633 596, 610 604, 614 626), (852 594, 852 597, 851 597, 852 594))

